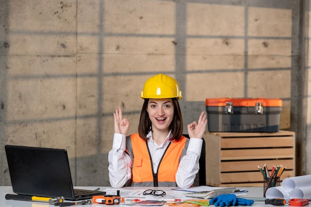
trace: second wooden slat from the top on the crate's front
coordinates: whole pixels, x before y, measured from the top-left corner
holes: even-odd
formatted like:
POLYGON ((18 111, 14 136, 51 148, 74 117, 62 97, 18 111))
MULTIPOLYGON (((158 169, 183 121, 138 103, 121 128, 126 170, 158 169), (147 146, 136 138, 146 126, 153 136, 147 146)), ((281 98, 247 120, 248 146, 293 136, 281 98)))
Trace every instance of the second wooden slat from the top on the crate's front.
POLYGON ((222 160, 294 158, 294 148, 221 150, 222 160))

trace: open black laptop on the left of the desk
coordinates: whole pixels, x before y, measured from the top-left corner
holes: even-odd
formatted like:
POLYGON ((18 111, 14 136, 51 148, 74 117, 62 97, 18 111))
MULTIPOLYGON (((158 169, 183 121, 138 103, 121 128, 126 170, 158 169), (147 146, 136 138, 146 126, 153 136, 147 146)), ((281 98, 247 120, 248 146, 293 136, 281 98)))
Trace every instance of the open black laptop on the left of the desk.
POLYGON ((13 192, 77 201, 105 195, 74 189, 66 149, 5 145, 13 192))

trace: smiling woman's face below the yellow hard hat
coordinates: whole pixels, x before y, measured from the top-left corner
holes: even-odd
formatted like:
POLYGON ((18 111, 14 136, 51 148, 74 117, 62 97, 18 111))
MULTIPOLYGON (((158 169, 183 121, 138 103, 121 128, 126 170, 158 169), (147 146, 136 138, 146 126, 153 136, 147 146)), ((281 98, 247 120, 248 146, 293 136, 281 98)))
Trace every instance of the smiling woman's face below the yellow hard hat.
POLYGON ((153 130, 170 130, 174 117, 172 99, 149 99, 147 111, 153 130))

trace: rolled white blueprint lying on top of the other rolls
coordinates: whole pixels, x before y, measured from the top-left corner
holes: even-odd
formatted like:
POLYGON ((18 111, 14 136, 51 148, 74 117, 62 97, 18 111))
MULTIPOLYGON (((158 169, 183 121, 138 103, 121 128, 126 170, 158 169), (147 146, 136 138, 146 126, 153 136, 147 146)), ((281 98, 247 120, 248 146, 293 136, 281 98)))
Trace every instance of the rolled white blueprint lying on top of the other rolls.
POLYGON ((282 181, 283 189, 290 193, 296 188, 311 186, 311 175, 302 175, 296 177, 285 178, 282 181))

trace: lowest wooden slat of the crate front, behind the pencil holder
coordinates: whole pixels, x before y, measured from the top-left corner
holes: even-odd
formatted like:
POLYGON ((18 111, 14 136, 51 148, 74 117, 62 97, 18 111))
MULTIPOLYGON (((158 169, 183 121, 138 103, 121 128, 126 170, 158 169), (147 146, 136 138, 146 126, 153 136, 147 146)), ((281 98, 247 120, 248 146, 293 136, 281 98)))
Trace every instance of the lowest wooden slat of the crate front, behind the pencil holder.
MULTIPOLYGON (((281 176, 281 181, 287 177, 294 177, 293 170, 285 170, 281 176)), ((221 183, 253 183, 263 182, 262 174, 259 172, 236 172, 236 173, 222 173, 221 183)))

